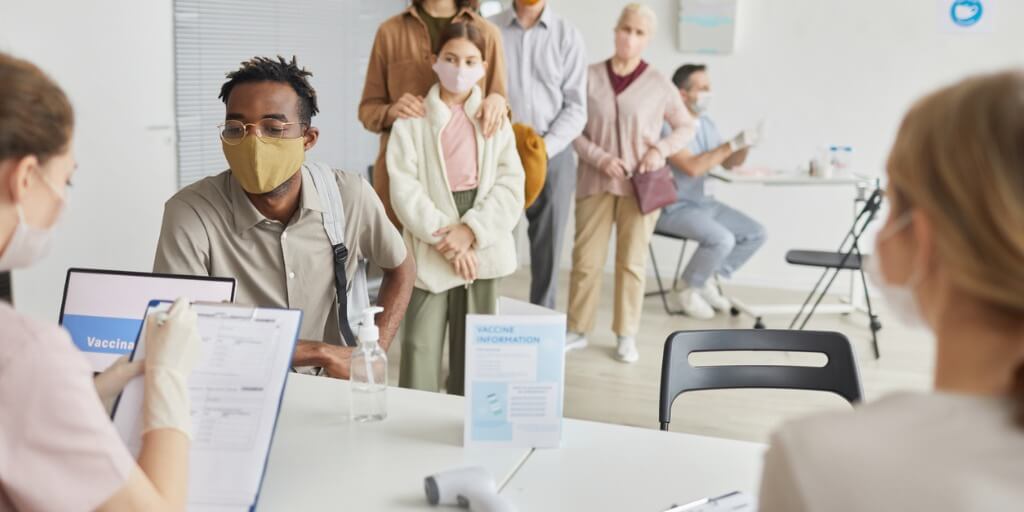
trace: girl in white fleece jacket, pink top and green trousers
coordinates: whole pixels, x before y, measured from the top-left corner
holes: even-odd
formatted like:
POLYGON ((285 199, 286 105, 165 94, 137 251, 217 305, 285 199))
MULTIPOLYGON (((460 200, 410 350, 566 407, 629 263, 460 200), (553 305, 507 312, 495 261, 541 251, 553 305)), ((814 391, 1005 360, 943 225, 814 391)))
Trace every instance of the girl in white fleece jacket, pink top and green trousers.
POLYGON ((525 174, 511 123, 487 138, 476 117, 487 65, 479 30, 452 24, 438 48, 426 116, 395 122, 387 147, 391 205, 417 265, 399 385, 440 389, 447 329, 447 392, 463 394, 466 314, 494 313, 497 280, 515 271, 525 174))

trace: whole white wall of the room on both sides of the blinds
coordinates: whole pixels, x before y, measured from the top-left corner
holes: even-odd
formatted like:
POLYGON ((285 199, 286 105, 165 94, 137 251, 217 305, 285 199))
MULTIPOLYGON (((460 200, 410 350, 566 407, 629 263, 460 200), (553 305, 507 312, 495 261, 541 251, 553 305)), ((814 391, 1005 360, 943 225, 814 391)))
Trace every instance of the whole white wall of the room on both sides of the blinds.
MULTIPOLYGON (((0 50, 50 73, 78 117, 79 173, 55 247, 14 275, 17 307, 54 319, 69 266, 152 266, 163 203, 175 190, 171 2, 2 1, 0 50)), ((583 31, 590 60, 611 54, 626 2, 550 1, 583 31)), ((737 50, 723 57, 677 52, 676 0, 649 3, 660 24, 648 60, 666 74, 710 63, 713 114, 726 135, 768 119, 768 139, 752 157, 759 164, 790 167, 817 144, 844 143, 862 171, 878 174, 913 98, 968 73, 1024 65, 1024 3, 1010 0, 993 12, 995 33, 968 37, 939 33, 935 0, 740 0, 737 50)), ((365 56, 340 58, 361 68, 365 56)), ((809 286, 816 272, 786 265, 784 252, 830 248, 851 215, 848 189, 721 185, 718 195, 770 231, 737 275, 745 283, 809 286)), ((668 266, 676 247, 657 249, 668 266)))

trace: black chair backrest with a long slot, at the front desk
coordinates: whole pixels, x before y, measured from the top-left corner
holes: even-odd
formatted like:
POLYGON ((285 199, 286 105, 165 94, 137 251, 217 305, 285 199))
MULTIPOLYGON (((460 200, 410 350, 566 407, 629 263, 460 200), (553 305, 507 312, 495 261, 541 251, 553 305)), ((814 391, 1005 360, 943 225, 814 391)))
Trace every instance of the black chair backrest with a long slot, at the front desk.
POLYGON ((708 389, 808 389, 861 400, 860 378, 850 341, 840 333, 784 330, 680 331, 665 341, 658 420, 669 429, 672 403, 685 392, 708 389), (695 352, 782 351, 823 353, 821 368, 785 366, 693 367, 695 352))

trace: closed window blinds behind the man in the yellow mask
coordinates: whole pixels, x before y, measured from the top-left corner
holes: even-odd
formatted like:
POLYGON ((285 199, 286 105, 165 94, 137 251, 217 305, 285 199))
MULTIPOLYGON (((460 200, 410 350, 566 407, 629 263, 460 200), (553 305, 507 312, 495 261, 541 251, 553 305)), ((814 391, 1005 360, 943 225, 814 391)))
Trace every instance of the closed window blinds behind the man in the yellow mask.
POLYGON ((312 72, 321 129, 307 158, 349 171, 377 157, 356 113, 377 27, 406 0, 174 0, 178 186, 227 168, 217 125, 224 75, 256 55, 298 57, 312 72))

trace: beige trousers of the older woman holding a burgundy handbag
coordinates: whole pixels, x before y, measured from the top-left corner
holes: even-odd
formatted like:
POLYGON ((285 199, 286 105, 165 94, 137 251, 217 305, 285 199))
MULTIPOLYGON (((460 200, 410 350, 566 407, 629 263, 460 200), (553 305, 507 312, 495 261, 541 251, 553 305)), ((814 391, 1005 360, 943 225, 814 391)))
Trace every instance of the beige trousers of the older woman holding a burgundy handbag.
POLYGON ((601 296, 608 240, 615 226, 615 303, 611 330, 636 336, 643 310, 647 276, 647 244, 660 210, 640 213, 636 198, 597 194, 577 199, 575 243, 569 280, 568 330, 589 333, 601 296))

